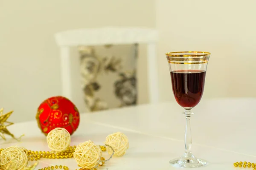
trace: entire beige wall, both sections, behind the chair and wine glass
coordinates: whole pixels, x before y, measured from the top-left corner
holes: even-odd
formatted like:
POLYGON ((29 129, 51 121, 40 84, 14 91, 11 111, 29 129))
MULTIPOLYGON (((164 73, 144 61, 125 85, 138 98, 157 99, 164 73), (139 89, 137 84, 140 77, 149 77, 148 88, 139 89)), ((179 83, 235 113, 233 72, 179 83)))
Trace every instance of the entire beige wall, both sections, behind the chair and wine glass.
MULTIPOLYGON (((174 100, 164 54, 183 50, 212 52, 204 98, 256 97, 255 6, 255 0, 1 1, 0 107, 15 111, 11 121, 35 119, 44 99, 61 94, 53 34, 102 26, 157 26, 161 101, 174 100)), ((139 101, 145 103, 145 48, 140 52, 139 101)), ((84 111, 78 62, 72 59, 74 102, 84 111)))

